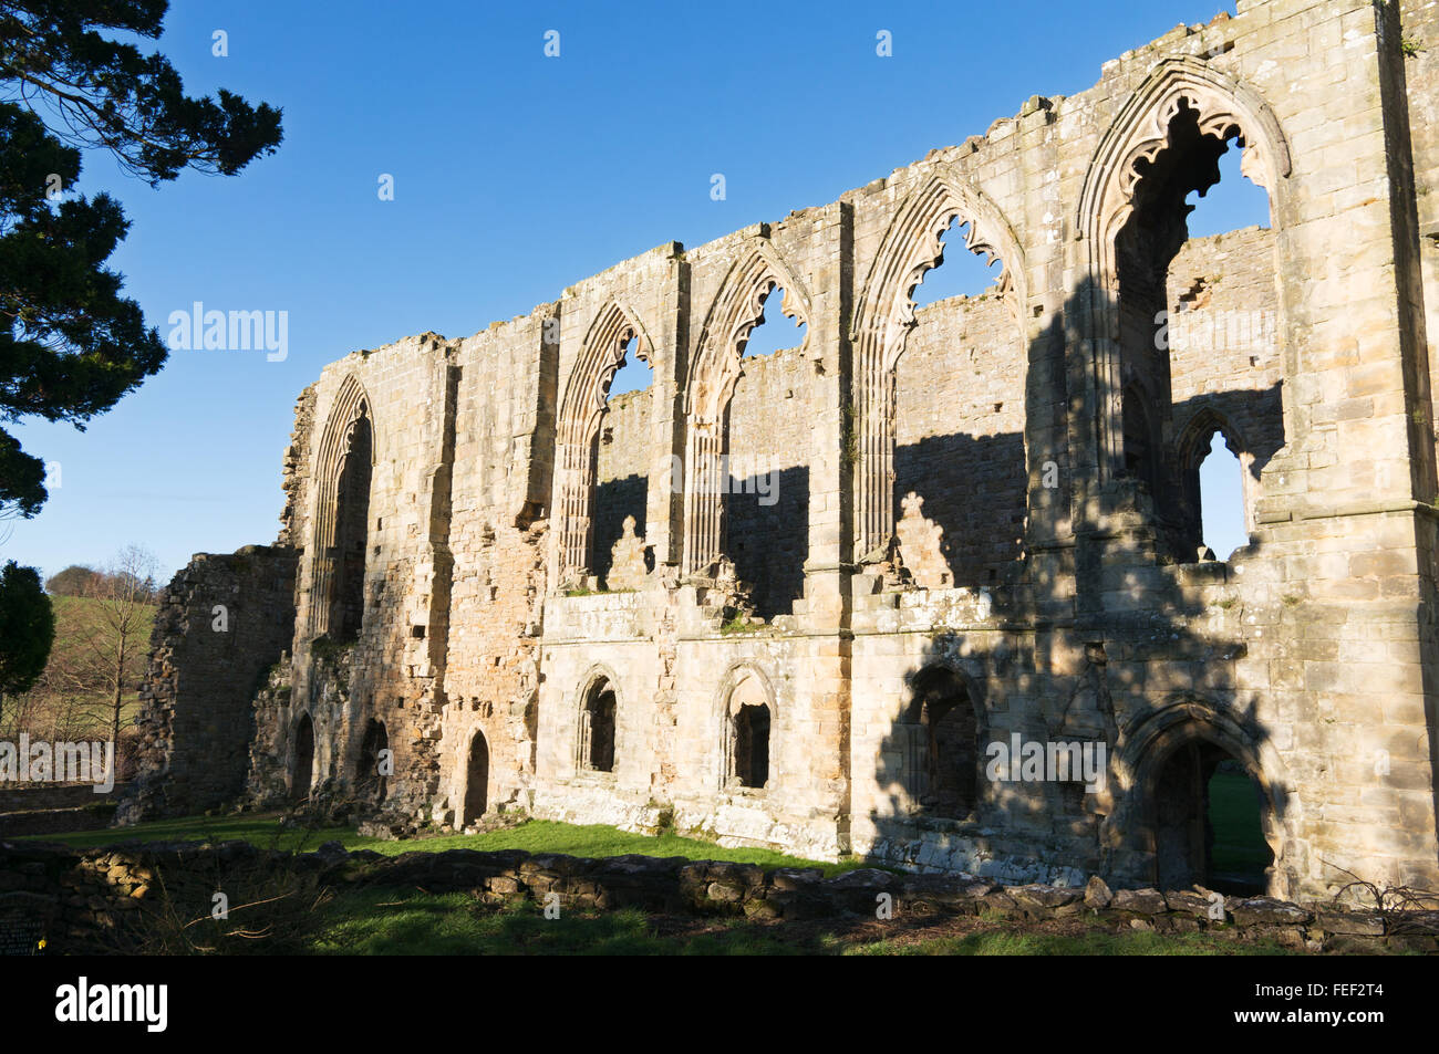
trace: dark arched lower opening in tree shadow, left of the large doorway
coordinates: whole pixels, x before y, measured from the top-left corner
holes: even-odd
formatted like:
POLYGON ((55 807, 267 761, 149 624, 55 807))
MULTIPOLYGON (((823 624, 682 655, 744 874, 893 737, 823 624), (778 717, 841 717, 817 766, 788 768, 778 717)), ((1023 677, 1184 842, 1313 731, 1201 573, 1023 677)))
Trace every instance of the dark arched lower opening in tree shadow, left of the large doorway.
POLYGON ((905 789, 920 808, 950 820, 973 812, 979 728, 968 689, 958 674, 931 666, 915 676, 904 736, 905 789))

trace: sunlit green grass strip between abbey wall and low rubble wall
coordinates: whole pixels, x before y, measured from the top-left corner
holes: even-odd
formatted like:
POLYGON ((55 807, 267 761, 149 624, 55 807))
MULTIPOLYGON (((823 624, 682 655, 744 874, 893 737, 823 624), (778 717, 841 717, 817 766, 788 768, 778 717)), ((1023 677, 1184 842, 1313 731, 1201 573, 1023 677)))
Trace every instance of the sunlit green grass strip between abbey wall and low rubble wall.
POLYGON ((407 841, 367 838, 350 827, 315 831, 283 828, 273 814, 237 817, 189 817, 160 820, 134 827, 115 827, 72 834, 33 835, 33 841, 59 841, 75 848, 94 848, 121 841, 229 841, 243 840, 262 848, 312 850, 322 841, 338 841, 348 850, 368 848, 386 856, 400 853, 439 853, 449 848, 502 850, 521 848, 530 853, 564 853, 573 857, 619 857, 639 853, 649 857, 688 857, 689 860, 728 860, 761 867, 819 867, 826 876, 843 874, 862 867, 859 860, 837 864, 787 857, 764 848, 724 848, 699 838, 679 834, 630 834, 600 824, 576 825, 550 820, 531 820, 518 827, 489 834, 450 834, 407 841))

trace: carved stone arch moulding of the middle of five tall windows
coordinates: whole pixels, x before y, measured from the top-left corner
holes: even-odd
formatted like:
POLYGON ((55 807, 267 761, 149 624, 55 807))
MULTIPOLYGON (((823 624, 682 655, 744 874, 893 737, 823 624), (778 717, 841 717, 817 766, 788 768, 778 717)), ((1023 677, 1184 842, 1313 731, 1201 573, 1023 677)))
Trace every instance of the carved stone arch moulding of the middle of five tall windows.
POLYGON ((755 236, 730 267, 699 329, 685 378, 685 574, 704 572, 724 549, 725 413, 744 375, 744 345, 776 288, 784 289, 780 311, 807 326, 802 345, 807 352, 813 331, 809 292, 764 236, 755 236))

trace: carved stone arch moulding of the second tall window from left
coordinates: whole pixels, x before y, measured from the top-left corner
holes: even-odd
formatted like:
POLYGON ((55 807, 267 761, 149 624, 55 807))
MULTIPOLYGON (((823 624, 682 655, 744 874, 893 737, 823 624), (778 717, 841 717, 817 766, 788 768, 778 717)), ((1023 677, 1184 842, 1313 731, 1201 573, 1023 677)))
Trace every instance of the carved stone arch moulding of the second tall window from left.
POLYGON ((560 398, 558 492, 560 574, 564 582, 589 569, 594 500, 593 443, 609 404, 610 382, 625 362, 626 347, 635 341, 635 355, 653 365, 655 345, 639 318, 623 303, 610 301, 596 313, 584 334, 580 354, 560 398))

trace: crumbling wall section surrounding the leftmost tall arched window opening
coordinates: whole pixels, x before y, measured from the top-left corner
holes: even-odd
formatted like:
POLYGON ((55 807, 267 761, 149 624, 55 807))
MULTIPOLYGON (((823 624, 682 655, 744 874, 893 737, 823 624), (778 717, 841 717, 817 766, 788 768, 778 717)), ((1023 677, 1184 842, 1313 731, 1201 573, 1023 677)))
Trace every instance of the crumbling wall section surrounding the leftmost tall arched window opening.
MULTIPOLYGON (((435 334, 358 351, 328 365, 315 385, 314 434, 324 436, 341 400, 358 385, 371 421, 373 476, 366 523, 364 621, 354 641, 315 638, 319 503, 332 487, 315 477, 321 441, 309 446, 307 545, 301 561, 295 672, 288 706, 273 720, 294 746, 294 728, 315 726, 312 787, 353 794, 370 722, 393 751, 387 805, 414 818, 435 794, 433 741, 443 709, 443 641, 449 590, 449 449, 455 345, 435 334), (327 787, 328 785, 328 787, 327 787)), ((344 403, 348 405, 348 403, 344 403)), ((342 427, 345 423, 338 421, 342 427)), ((286 771, 291 756, 286 755, 286 771)))

